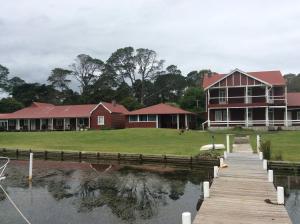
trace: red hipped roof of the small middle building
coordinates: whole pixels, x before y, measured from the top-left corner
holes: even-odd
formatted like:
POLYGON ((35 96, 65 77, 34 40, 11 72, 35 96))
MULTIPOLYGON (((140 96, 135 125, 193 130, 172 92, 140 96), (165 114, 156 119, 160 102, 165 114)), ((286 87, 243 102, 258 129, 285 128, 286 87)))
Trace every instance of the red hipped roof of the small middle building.
POLYGON ((192 113, 183 110, 181 108, 164 104, 164 103, 156 104, 150 107, 145 107, 127 113, 127 115, 142 115, 142 114, 192 114, 192 113))

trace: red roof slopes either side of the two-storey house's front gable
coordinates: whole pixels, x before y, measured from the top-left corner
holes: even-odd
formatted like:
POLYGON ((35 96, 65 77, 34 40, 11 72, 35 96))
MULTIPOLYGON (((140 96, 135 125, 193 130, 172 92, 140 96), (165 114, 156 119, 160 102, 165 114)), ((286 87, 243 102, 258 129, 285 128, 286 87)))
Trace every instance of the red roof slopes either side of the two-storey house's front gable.
MULTIPOLYGON (((246 72, 249 76, 266 82, 270 85, 281 86, 285 85, 285 80, 280 71, 260 71, 260 72, 246 72)), ((211 76, 204 76, 203 88, 206 89, 210 85, 218 82, 228 74, 213 74, 211 76)))

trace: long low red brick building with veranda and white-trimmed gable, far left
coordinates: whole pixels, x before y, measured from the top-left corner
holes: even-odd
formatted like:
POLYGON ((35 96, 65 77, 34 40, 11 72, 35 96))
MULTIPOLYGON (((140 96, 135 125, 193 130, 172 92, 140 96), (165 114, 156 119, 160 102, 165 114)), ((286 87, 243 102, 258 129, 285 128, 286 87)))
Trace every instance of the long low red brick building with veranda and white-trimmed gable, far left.
POLYGON ((56 106, 32 103, 13 113, 0 115, 0 130, 80 130, 124 128, 128 110, 116 103, 56 106))

